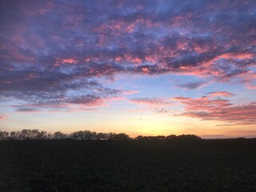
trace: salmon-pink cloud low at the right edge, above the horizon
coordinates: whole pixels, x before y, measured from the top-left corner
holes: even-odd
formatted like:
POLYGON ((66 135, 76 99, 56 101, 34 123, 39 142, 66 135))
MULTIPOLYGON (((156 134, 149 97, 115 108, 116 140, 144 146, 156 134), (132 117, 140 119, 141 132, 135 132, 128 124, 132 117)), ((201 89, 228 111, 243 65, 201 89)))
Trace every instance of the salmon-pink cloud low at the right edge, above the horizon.
POLYGON ((230 125, 255 125, 256 102, 234 105, 230 100, 211 98, 174 98, 185 105, 180 115, 200 118, 202 120, 217 120, 228 122, 230 125))

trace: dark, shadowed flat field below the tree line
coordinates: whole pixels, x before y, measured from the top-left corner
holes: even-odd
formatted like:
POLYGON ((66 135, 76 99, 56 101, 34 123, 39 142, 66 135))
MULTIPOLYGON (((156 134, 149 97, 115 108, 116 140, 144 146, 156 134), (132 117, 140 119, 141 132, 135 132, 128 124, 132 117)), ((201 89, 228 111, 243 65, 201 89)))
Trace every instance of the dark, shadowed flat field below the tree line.
POLYGON ((256 139, 1 141, 0 191, 256 191, 256 139))

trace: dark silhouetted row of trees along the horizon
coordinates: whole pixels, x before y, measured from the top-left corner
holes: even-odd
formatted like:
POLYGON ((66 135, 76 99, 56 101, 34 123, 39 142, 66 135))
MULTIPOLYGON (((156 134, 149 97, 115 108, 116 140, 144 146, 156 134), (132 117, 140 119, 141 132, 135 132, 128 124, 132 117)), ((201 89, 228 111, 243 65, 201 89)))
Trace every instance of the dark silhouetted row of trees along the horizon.
POLYGON ((90 130, 79 130, 71 134, 64 134, 61 131, 57 131, 54 134, 40 130, 21 130, 21 131, 0 131, 0 140, 27 140, 27 139, 74 139, 74 140, 163 140, 163 139, 201 139, 194 134, 182 134, 169 136, 142 136, 139 135, 136 138, 130 138, 128 134, 116 134, 116 133, 96 133, 90 130))

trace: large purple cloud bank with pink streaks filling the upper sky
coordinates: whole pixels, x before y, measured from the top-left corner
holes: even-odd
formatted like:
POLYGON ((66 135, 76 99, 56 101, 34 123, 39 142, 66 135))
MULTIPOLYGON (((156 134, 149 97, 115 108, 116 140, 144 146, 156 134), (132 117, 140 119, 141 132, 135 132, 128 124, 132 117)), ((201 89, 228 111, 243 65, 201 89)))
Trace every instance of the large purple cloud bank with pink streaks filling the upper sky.
POLYGON ((255 7, 252 0, 3 0, 0 99, 103 104, 101 99, 122 90, 98 78, 123 73, 192 74, 217 82, 239 78, 251 88, 255 7))

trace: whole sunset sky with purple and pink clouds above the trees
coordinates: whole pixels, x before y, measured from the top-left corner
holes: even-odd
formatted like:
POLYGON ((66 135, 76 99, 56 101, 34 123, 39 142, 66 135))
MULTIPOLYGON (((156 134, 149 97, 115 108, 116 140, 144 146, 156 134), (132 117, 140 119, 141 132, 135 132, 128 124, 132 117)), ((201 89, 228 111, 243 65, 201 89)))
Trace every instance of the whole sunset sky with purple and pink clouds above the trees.
POLYGON ((0 130, 256 137, 256 1, 2 0, 0 130))

